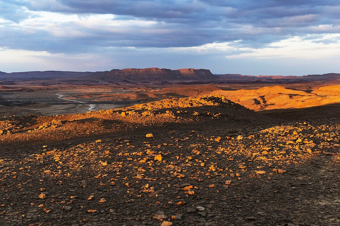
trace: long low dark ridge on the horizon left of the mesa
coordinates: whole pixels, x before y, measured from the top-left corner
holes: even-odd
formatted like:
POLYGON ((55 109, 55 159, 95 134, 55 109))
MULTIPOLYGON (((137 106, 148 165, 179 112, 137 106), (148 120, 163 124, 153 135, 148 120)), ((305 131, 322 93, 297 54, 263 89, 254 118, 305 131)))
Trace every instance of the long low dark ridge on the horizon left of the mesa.
POLYGON ((28 71, 28 72, 0 72, 0 79, 46 79, 46 78, 65 78, 73 76, 91 75, 93 72, 74 72, 74 71, 28 71))

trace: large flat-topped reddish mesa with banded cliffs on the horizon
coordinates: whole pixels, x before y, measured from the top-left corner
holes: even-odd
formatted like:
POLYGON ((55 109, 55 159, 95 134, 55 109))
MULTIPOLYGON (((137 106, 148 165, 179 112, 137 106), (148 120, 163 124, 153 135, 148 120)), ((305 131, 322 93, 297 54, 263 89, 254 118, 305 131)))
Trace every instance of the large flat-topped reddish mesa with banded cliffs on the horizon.
POLYGON ((159 68, 126 68, 114 69, 104 75, 106 79, 116 81, 189 81, 189 80, 216 80, 216 76, 205 69, 159 69, 159 68))

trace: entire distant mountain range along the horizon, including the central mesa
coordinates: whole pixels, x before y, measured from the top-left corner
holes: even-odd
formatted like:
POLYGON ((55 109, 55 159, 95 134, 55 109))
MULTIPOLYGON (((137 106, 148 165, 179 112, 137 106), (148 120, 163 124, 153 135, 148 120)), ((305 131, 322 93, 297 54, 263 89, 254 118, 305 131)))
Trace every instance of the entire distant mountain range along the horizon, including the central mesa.
POLYGON ((53 78, 72 78, 79 77, 84 79, 101 79, 108 81, 126 82, 251 82, 251 83, 282 83, 282 82, 308 82, 317 80, 340 80, 340 74, 328 73, 322 75, 304 76, 283 76, 283 75, 241 75, 241 74, 212 74, 206 69, 159 69, 159 68, 126 68, 113 69, 111 71, 99 72, 73 72, 73 71, 29 71, 5 73, 0 71, 1 80, 34 80, 34 79, 53 79, 53 78))

